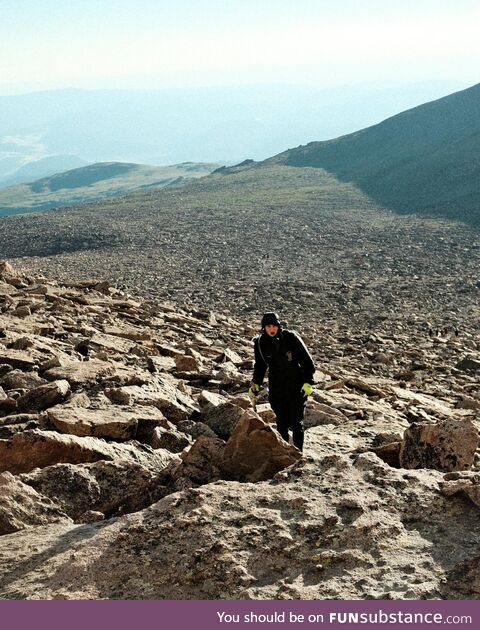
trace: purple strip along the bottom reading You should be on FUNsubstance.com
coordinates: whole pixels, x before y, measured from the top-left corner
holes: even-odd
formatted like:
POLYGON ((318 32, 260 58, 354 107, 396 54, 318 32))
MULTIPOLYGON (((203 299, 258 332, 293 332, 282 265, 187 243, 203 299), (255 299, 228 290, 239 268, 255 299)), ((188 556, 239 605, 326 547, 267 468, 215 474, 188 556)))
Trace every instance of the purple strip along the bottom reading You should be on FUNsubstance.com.
MULTIPOLYGON (((0 630, 306 630, 480 625, 480 601, 3 601, 0 630), (223 613, 223 615, 222 615, 223 613), (220 621, 222 619, 222 621, 220 621)), ((447 630, 447 629, 445 629, 447 630)))

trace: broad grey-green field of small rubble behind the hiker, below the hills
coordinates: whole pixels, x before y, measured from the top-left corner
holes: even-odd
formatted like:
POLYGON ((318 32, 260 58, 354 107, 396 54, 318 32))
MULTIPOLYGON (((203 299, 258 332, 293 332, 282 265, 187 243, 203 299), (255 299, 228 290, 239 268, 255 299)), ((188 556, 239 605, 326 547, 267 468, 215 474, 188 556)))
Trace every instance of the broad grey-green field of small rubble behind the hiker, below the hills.
MULTIPOLYGON (((315 168, 247 164, 184 186, 7 217, 0 258, 63 280, 101 270, 132 293, 234 317, 277 309, 294 327, 321 325, 335 337, 406 334, 415 348, 429 328, 464 337, 480 329, 478 231, 398 217, 315 168)), ((323 331, 316 336, 323 341, 323 331)))

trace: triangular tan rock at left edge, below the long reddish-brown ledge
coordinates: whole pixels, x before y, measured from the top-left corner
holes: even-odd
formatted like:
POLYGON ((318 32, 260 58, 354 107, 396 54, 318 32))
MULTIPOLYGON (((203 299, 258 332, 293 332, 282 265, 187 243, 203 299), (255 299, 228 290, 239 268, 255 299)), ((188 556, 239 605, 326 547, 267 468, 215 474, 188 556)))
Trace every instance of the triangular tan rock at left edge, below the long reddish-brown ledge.
POLYGON ((31 525, 71 522, 54 501, 9 472, 0 474, 0 535, 31 525))

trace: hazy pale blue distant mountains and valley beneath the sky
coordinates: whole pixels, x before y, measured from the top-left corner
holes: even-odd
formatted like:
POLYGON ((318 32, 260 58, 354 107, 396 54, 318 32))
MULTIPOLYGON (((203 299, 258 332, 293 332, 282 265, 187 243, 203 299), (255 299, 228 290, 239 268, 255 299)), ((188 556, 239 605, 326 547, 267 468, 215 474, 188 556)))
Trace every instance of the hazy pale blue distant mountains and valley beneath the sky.
MULTIPOLYGON (((451 81, 392 82, 337 89, 260 85, 2 96, 0 185, 28 162, 50 156, 156 165, 263 160, 312 139, 373 125, 463 87, 451 81)), ((53 172, 82 165, 65 164, 53 172)), ((38 172, 30 181, 53 172, 38 172)), ((26 180, 8 183, 20 181, 26 180)))

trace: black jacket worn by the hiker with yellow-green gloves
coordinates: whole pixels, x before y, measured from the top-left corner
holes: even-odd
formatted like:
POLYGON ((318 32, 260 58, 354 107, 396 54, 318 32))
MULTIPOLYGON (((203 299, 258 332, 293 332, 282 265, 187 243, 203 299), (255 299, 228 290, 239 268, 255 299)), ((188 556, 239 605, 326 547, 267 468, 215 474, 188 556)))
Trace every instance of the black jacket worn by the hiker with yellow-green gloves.
POLYGON ((300 336, 281 330, 276 337, 262 333, 254 339, 253 382, 263 383, 268 368, 270 396, 298 393, 304 383, 313 385, 315 366, 300 336))

